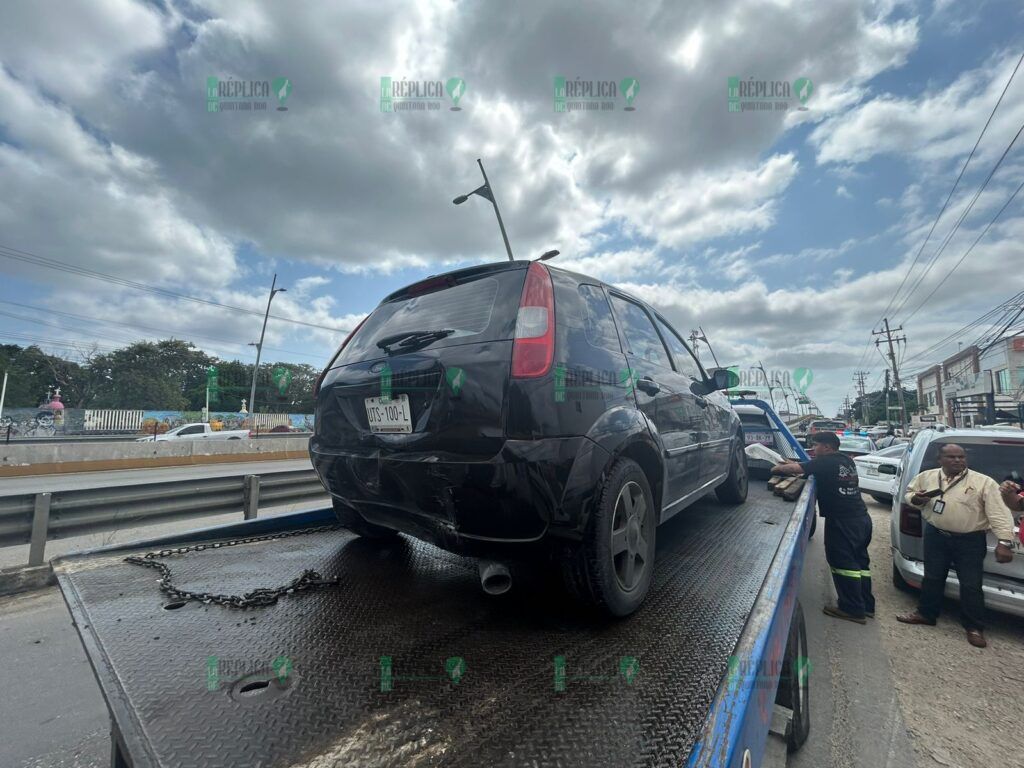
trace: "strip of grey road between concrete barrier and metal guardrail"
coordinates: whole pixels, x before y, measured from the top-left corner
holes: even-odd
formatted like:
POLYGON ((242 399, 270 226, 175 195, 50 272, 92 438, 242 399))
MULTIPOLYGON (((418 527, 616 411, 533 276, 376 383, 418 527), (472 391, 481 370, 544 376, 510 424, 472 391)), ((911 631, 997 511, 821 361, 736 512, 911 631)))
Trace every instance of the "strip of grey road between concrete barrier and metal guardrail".
POLYGON ((238 464, 205 464, 157 469, 118 469, 110 472, 71 472, 59 475, 29 475, 0 477, 0 496, 41 494, 46 490, 98 488, 110 485, 135 485, 144 482, 172 482, 201 477, 234 477, 265 472, 287 472, 311 469, 308 459, 289 461, 255 461, 238 464))

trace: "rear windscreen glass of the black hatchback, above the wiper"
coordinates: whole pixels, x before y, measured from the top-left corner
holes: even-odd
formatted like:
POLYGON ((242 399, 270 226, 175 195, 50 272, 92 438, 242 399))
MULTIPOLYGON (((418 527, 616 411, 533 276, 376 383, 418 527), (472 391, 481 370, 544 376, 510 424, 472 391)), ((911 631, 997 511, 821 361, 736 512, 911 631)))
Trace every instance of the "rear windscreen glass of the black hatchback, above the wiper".
POLYGON ((511 338, 524 276, 525 270, 509 270, 385 302, 370 314, 335 365, 382 357, 378 341, 410 331, 454 332, 417 349, 511 338))

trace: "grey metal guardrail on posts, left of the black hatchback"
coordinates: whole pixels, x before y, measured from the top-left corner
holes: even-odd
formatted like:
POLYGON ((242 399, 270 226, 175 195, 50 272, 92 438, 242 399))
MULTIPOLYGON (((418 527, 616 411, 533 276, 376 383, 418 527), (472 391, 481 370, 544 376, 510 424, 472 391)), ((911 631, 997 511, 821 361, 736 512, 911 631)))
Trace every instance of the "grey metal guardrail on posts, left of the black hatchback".
POLYGON ((55 539, 239 511, 248 520, 260 503, 326 496, 311 469, 0 496, 0 547, 28 544, 29 565, 42 565, 55 539))

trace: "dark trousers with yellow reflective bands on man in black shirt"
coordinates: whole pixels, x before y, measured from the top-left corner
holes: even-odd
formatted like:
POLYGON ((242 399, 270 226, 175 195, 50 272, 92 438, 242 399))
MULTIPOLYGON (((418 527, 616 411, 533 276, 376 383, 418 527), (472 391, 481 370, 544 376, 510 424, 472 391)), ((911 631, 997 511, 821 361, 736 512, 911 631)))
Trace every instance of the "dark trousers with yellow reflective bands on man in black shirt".
POLYGON ((871 594, 871 518, 865 512, 854 517, 825 517, 825 560, 831 568, 839 609, 855 616, 874 612, 871 594))

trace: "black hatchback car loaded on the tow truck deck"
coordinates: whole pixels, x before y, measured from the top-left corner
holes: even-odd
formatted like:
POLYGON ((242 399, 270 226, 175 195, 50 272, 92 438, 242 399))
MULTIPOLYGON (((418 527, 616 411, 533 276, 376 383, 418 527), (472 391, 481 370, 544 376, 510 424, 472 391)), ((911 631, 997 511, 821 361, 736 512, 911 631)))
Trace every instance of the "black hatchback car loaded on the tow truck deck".
POLYGON ((715 490, 746 498, 739 419, 644 302, 537 261, 386 297, 316 384, 309 451, 338 519, 508 563, 554 559, 613 615, 650 585, 656 526, 715 490))

